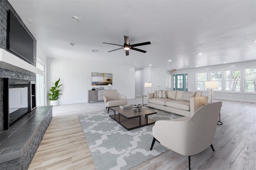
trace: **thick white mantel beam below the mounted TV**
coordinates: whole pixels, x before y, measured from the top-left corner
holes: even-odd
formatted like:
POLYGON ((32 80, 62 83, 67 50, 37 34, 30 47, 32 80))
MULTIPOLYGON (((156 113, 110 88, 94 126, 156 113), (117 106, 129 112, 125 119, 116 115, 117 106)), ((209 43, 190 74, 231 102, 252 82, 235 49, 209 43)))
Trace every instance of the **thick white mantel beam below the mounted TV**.
POLYGON ((0 49, 0 68, 22 72, 29 75, 40 74, 42 76, 46 76, 44 71, 4 49, 0 49))

